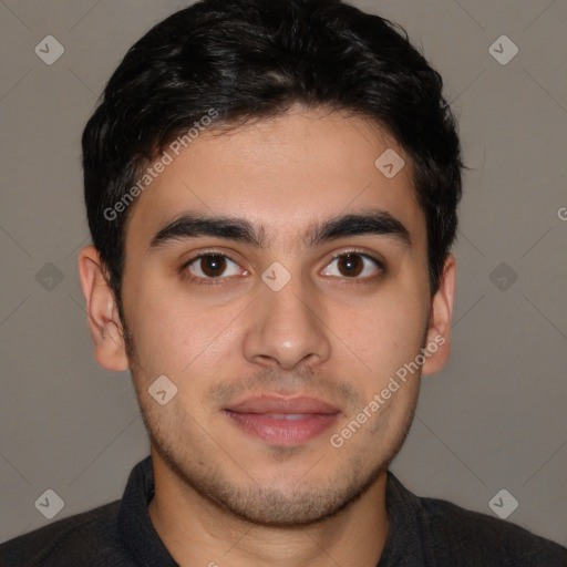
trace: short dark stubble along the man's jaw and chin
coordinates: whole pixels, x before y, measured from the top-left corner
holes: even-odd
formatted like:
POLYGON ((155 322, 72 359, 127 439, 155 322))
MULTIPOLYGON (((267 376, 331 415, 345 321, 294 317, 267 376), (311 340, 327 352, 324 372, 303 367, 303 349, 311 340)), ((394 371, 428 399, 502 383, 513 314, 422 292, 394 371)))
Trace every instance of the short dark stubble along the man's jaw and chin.
MULTIPOLYGON (((153 451, 159 455, 179 483, 229 516, 255 525, 308 526, 321 523, 348 508, 380 477, 383 478, 388 466, 409 434, 417 403, 417 393, 415 393, 400 420, 401 426, 395 432, 388 432, 390 421, 388 414, 392 408, 385 406, 382 416, 375 415, 378 417, 375 425, 370 427, 367 425, 365 435, 361 435, 355 444, 352 444, 351 453, 342 458, 342 466, 336 467, 334 473, 327 475, 324 480, 317 478, 317 474, 321 474, 321 471, 327 473, 329 460, 334 456, 332 454, 323 454, 320 462, 313 458, 312 470, 308 471, 295 486, 286 485, 285 482, 278 483, 277 480, 271 486, 261 486, 250 474, 245 474, 246 457, 231 455, 229 447, 223 447, 221 443, 210 435, 210 443, 216 446, 209 447, 215 450, 209 453, 217 455, 216 461, 207 457, 207 440, 200 444, 200 449, 197 449, 202 454, 190 453, 190 443, 186 442, 186 437, 199 432, 195 427, 193 433, 189 431, 184 433, 183 424, 190 424, 192 416, 184 415, 183 409, 175 404, 168 408, 166 414, 163 413, 164 406, 152 405, 153 400, 145 395, 148 377, 140 361, 134 338, 127 327, 124 327, 124 341, 138 406, 153 451), (223 451, 217 451, 218 447, 223 451), (228 466, 223 466, 218 455, 220 458, 226 457, 228 466), (374 462, 370 464, 369 460, 374 462), (234 468, 235 473, 230 473, 230 468, 234 468), (240 476, 241 481, 236 481, 235 475, 240 476)), ((269 378, 271 381, 274 377, 269 378)), ((306 383, 308 382, 303 381, 303 385, 306 383)), ((218 386, 216 393, 219 394, 223 390, 226 395, 234 398, 240 386, 238 384, 218 386), (233 391, 233 389, 236 390, 233 391)), ((341 388, 344 389, 342 393, 350 395, 353 404, 359 403, 359 396, 349 386, 350 384, 342 384, 341 388)), ((214 389, 212 394, 214 396, 214 389)), ((217 399, 219 398, 221 396, 217 395, 217 399)), ((270 446, 266 447, 266 458, 274 463, 286 464, 295 456, 299 458, 303 450, 302 446, 270 446)))

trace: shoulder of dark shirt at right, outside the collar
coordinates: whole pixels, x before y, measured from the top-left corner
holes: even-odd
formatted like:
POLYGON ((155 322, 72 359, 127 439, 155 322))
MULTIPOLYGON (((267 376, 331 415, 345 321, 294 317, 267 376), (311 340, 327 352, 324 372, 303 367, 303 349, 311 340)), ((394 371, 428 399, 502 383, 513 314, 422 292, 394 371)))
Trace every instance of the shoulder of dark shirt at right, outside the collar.
POLYGON ((463 565, 566 567, 567 548, 537 536, 511 522, 462 508, 439 498, 419 498, 424 540, 435 553, 445 549, 447 558, 474 557, 463 565))

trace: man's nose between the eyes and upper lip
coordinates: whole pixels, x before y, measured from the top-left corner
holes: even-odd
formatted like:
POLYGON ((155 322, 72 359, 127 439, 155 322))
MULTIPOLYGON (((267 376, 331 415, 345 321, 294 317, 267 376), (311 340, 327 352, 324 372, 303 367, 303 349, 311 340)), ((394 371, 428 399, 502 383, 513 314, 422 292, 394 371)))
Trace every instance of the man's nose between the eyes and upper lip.
POLYGON ((281 370, 323 362, 331 352, 323 319, 321 295, 302 289, 299 276, 279 291, 262 285, 244 337, 244 355, 252 363, 281 370))

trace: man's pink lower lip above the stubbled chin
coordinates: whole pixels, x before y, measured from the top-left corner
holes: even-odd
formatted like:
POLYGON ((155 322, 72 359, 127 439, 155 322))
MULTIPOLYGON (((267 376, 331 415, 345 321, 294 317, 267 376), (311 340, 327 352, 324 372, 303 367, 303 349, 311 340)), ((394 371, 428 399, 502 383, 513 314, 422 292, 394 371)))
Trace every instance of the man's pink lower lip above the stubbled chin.
POLYGON ((305 443, 331 427, 339 417, 339 413, 308 413, 297 420, 278 420, 261 413, 225 413, 246 433, 272 445, 305 443))

